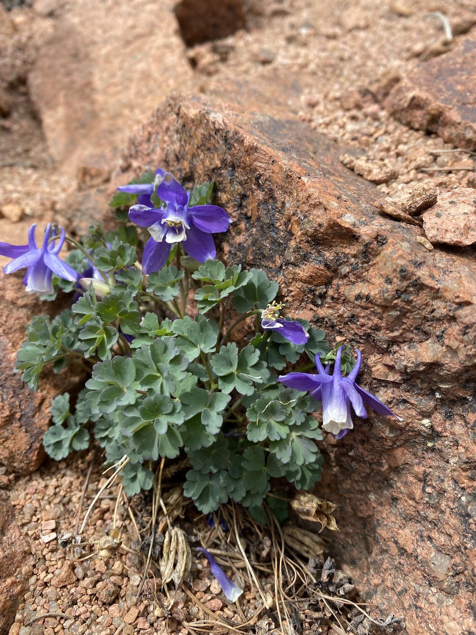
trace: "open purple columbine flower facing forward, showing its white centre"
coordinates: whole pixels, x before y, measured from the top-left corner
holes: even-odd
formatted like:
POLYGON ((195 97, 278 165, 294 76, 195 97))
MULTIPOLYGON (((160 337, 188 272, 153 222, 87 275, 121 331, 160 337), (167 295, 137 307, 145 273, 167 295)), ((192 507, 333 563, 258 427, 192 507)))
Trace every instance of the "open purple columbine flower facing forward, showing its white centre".
POLYGON ((215 258, 211 234, 227 231, 231 222, 227 212, 216 205, 188 207, 186 190, 169 173, 157 187, 157 196, 165 202, 164 209, 133 205, 129 210, 131 221, 148 227, 151 236, 145 245, 142 271, 159 271, 167 262, 172 244, 182 241, 185 251, 195 260, 215 258))

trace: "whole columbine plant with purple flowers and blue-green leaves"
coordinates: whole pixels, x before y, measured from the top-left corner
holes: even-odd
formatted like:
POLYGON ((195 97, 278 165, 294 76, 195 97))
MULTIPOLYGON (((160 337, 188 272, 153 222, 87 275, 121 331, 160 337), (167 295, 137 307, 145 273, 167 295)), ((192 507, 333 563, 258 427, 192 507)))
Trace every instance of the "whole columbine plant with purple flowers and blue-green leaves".
MULTIPOLYGON (((321 403, 323 428, 336 439, 352 429, 351 408, 359 417, 364 402, 392 412, 355 384, 359 351, 354 366, 348 346, 331 347, 323 331, 280 315, 278 285, 264 271, 215 259, 212 234, 227 231, 230 217, 209 204, 212 189, 187 192, 159 168, 119 188, 115 232, 92 226, 79 243, 48 225, 38 249, 33 225, 27 245, 0 243, 13 258, 6 273, 27 269, 27 291, 76 294, 70 310, 32 321, 15 370, 32 389, 46 366, 74 363, 89 374, 74 408, 68 393, 53 400, 44 435, 51 457, 84 450, 93 431, 107 462, 122 460, 133 495, 151 488, 157 462, 185 455, 184 493, 202 512, 231 498, 261 518, 271 478, 298 490, 319 480, 321 403), (75 249, 63 262, 65 240, 75 249), (255 332, 239 346, 234 329, 246 320, 255 332), (315 360, 317 374, 277 376, 301 358, 315 360)), ((277 500, 268 503, 275 509, 277 500)))

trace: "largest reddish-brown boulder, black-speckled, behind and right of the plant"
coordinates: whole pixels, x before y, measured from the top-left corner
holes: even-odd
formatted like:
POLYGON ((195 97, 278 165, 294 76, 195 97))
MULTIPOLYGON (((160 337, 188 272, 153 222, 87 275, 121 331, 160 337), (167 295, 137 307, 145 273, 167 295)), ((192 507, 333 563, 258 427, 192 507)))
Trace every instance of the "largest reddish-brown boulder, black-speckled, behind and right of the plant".
POLYGON ((475 256, 428 251, 419 227, 381 217, 380 192, 340 163, 348 149, 298 121, 294 97, 262 79, 169 100, 123 176, 162 165, 185 183, 214 178, 234 220, 218 237, 227 262, 264 267, 289 314, 362 349, 360 382, 403 420, 369 413, 327 439, 331 551, 411 634, 473 632, 475 256))

